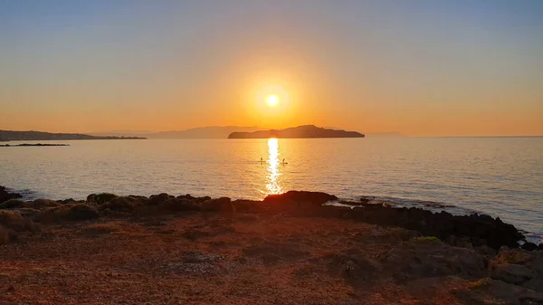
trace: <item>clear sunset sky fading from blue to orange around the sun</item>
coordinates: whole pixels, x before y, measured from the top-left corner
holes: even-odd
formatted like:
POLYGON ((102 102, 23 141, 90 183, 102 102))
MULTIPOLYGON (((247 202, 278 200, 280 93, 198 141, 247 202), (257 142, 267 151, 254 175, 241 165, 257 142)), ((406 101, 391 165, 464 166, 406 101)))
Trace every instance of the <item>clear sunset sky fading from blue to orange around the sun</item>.
POLYGON ((0 129, 543 135, 542 16, 539 0, 0 0, 0 129))

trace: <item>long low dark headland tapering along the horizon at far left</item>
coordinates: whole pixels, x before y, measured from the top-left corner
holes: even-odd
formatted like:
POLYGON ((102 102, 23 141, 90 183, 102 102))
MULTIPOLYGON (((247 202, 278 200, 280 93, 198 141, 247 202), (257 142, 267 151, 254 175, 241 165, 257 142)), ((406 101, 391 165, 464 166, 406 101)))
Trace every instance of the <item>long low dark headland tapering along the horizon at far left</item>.
POLYGON ((42 131, 13 131, 0 130, 2 141, 43 141, 43 140, 72 140, 72 139, 145 139, 139 137, 96 137, 80 133, 51 133, 42 131))

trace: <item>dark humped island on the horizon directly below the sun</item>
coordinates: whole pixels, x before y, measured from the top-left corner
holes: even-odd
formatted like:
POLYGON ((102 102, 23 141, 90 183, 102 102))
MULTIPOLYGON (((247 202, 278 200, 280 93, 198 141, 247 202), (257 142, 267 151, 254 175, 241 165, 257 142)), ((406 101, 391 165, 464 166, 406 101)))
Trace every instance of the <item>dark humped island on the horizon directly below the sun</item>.
POLYGON ((322 129, 315 125, 303 125, 290 129, 233 132, 228 138, 365 138, 357 131, 322 129))

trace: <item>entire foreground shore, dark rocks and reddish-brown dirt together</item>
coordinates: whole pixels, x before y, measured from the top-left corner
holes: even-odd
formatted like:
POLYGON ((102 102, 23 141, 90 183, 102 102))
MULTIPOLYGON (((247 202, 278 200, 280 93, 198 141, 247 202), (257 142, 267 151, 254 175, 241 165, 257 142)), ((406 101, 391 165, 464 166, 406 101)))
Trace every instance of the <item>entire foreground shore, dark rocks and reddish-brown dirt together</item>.
POLYGON ((543 304, 543 245, 513 225, 337 200, 0 187, 0 303, 543 304))

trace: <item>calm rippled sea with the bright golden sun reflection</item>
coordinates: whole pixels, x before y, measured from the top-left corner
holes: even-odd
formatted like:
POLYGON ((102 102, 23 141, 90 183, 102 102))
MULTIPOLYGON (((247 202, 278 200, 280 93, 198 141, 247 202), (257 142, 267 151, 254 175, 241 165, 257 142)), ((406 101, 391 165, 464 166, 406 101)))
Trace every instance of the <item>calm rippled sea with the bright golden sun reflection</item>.
POLYGON ((395 205, 451 205, 453 213, 500 216, 532 239, 543 236, 543 138, 65 143, 71 146, 0 148, 0 185, 53 199, 96 192, 260 199, 292 189, 323 191, 395 205))

